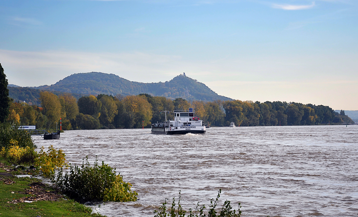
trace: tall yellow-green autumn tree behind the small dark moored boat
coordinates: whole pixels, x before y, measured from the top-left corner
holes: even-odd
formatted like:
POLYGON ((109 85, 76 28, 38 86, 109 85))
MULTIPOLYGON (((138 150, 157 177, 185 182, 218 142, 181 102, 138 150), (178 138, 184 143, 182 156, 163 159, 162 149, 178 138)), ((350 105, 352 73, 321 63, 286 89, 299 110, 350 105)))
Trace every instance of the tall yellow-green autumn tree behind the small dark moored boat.
POLYGON ((44 114, 50 122, 50 128, 55 128, 56 123, 60 122, 60 118, 64 116, 62 106, 58 97, 51 92, 40 93, 41 106, 44 114))

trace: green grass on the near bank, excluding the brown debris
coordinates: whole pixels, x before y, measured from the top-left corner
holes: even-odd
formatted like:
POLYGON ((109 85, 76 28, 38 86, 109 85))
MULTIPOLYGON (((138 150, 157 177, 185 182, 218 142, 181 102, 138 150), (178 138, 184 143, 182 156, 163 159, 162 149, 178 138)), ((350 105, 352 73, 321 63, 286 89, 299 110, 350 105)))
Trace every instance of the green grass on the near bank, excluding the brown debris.
MULTIPOLYGON (((7 164, 6 162, 2 163, 7 164)), ((1 168, 0 171, 8 172, 5 171, 4 168, 1 168)), ((91 214, 91 208, 66 198, 60 198, 58 201, 10 203, 15 199, 30 197, 31 195, 21 192, 24 192, 26 188, 29 189, 29 184, 38 182, 39 180, 35 178, 16 178, 8 176, 0 176, 0 178, 15 181, 15 183, 12 184, 5 184, 4 180, 0 180, 0 217, 103 217, 97 213, 91 214)))

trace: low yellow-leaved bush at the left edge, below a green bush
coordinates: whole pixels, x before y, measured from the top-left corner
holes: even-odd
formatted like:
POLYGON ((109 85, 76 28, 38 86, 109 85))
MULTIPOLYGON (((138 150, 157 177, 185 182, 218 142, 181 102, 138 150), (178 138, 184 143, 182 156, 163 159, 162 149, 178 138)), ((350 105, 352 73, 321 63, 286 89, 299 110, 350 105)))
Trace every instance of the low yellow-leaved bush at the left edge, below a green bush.
POLYGON ((37 157, 37 152, 35 152, 33 148, 30 148, 28 146, 26 146, 25 148, 21 148, 18 146, 18 142, 16 140, 11 140, 10 144, 11 146, 8 149, 5 149, 5 147, 3 147, 0 152, 1 155, 4 156, 8 162, 14 164, 34 163, 34 160, 37 157))

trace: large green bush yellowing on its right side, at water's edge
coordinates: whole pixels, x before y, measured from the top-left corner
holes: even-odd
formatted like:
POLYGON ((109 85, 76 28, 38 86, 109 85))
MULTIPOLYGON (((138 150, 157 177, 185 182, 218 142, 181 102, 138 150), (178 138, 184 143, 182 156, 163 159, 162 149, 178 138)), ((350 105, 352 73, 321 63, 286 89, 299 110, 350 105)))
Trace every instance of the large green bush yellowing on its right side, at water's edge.
MULTIPOLYGON (((83 159, 84 160, 84 159, 83 159)), ((60 169, 56 179, 53 179, 54 187, 67 194, 71 198, 85 200, 105 200, 105 201, 136 201, 136 192, 131 192, 130 183, 122 181, 122 177, 116 176, 116 169, 112 169, 108 164, 98 160, 94 166, 88 162, 82 162, 82 166, 72 166, 70 171, 63 175, 60 169)))

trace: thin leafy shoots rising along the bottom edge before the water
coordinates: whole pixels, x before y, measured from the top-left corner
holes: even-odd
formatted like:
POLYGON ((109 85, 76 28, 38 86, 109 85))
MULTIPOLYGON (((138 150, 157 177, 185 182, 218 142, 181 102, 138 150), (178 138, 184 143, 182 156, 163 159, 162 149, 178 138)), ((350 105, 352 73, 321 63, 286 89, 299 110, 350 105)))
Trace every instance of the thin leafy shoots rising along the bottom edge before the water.
MULTIPOLYGON (((230 201, 226 200, 221 208, 220 213, 217 215, 217 211, 215 210, 217 206, 217 202, 219 201, 221 189, 219 189, 218 196, 214 200, 210 200, 209 210, 207 211, 207 214, 205 214, 205 205, 200 205, 199 202, 197 203, 197 206, 195 208, 195 211, 193 209, 189 209, 189 217, 240 217, 241 216, 241 206, 239 203, 238 207, 238 213, 236 210, 232 210, 232 206, 230 205, 230 201)), ((165 202, 162 204, 162 206, 159 207, 159 211, 155 210, 155 216, 154 217, 184 217, 186 211, 183 210, 183 207, 180 205, 180 191, 179 191, 179 201, 178 201, 178 208, 175 209, 175 197, 173 197, 173 202, 171 203, 170 212, 166 212, 166 200, 168 198, 165 198, 165 202)))

